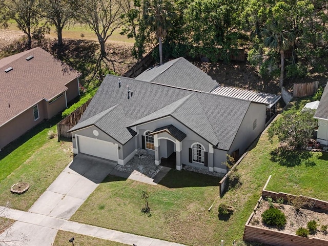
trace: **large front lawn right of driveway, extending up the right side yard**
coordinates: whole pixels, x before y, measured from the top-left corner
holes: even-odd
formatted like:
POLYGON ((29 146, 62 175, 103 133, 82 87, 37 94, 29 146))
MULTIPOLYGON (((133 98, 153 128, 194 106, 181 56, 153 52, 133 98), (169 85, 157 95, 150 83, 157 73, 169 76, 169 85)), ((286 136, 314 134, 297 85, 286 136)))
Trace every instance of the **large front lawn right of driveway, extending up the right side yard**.
POLYGON ((323 182, 328 178, 328 154, 301 151, 277 156, 277 147, 277 139, 271 144, 263 133, 238 166, 242 185, 217 199, 211 212, 218 179, 172 170, 158 186, 109 176, 72 220, 188 245, 217 245, 221 239, 231 245, 242 238, 269 175, 268 190, 328 200, 328 185, 323 182), (140 212, 142 190, 150 192, 151 217, 140 212), (221 202, 234 208, 226 221, 217 216, 221 202))

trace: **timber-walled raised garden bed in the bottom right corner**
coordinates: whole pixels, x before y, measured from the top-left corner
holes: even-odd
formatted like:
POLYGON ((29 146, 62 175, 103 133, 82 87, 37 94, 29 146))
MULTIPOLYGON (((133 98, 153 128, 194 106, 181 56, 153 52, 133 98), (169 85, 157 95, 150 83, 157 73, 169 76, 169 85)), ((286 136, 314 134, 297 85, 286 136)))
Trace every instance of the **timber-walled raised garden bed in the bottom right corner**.
POLYGON ((295 207, 287 202, 288 199, 296 197, 302 196, 270 192, 264 188, 262 190, 262 196, 254 208, 254 212, 245 224, 243 239, 245 241, 262 242, 277 246, 328 245, 328 232, 321 230, 321 226, 328 224, 328 202, 310 197, 302 197, 311 202, 310 207, 313 207, 302 207, 299 211, 296 211, 295 207), (268 226, 262 222, 261 214, 270 207, 270 202, 266 200, 268 196, 273 199, 284 199, 282 204, 273 203, 286 217, 286 224, 283 228, 268 226), (307 237, 297 236, 296 231, 300 227, 306 228, 308 222, 311 220, 317 221, 317 230, 312 234, 309 233, 307 237))

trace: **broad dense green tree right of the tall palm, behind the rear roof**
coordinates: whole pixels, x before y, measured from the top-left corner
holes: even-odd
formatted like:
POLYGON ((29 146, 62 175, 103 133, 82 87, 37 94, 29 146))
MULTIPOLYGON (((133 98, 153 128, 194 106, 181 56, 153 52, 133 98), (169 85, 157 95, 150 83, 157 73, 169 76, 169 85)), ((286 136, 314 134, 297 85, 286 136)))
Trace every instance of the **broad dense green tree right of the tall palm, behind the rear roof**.
POLYGON ((229 60, 229 49, 240 38, 240 15, 243 0, 194 0, 185 10, 185 23, 195 55, 205 54, 212 60, 219 56, 229 60), (221 52, 218 48, 222 48, 221 52), (220 54, 219 54, 220 53, 220 54))

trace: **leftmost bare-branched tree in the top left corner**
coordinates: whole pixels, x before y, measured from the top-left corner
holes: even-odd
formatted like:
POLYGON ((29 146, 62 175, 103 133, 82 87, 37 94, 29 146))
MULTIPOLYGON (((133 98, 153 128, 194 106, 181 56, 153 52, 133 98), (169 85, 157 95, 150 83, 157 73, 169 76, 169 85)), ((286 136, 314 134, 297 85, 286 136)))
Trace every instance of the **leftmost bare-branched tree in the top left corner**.
POLYGON ((28 49, 31 49, 32 30, 38 28, 39 16, 35 0, 5 0, 0 9, 2 25, 8 28, 8 20, 15 20, 19 30, 27 35, 28 49))

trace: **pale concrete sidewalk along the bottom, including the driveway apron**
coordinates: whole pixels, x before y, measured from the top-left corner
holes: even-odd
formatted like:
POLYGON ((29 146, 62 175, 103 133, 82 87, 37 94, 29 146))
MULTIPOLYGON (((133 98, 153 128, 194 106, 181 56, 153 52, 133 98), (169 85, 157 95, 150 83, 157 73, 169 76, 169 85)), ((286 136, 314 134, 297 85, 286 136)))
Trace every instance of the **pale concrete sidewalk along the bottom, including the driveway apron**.
MULTIPOLYGON (((0 207, 0 210, 2 209, 4 209, 4 207, 0 207)), ((55 238, 58 230, 74 232, 110 241, 125 243, 128 245, 183 246, 183 244, 179 243, 90 226, 88 224, 68 221, 66 219, 55 218, 48 215, 41 215, 8 208, 5 210, 6 212, 3 213, 2 216, 9 219, 14 219, 16 222, 7 234, 0 235, 0 240, 4 239, 3 236, 5 236, 6 240, 16 240, 14 245, 17 246, 52 245, 53 239, 55 238), (16 233, 17 231, 21 233, 16 233), (42 234, 44 235, 43 237, 41 236, 42 234), (28 240, 22 240, 23 237, 28 240)), ((76 238, 76 241, 78 241, 78 238, 76 238)))

